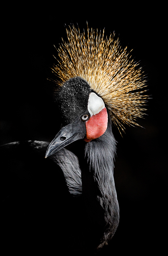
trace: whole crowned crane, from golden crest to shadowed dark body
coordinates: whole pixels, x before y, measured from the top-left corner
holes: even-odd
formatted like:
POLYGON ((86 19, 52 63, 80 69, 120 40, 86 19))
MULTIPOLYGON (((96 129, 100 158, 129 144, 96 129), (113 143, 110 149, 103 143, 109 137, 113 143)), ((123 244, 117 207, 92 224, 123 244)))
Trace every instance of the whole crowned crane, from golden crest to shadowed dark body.
POLYGON ((143 116, 147 99, 138 89, 146 86, 145 78, 114 35, 105 38, 104 31, 89 29, 85 35, 72 26, 67 36, 68 42, 58 49, 58 65, 53 66, 61 129, 50 144, 26 141, 3 146, 2 151, 13 157, 12 172, 3 177, 4 187, 10 177, 10 196, 5 194, 4 202, 10 201, 7 209, 11 212, 13 207, 20 216, 15 215, 18 225, 15 220, 10 225, 23 234, 22 244, 46 251, 99 251, 119 223, 112 124, 121 131, 124 124, 138 125, 136 118, 143 116), (81 144, 79 159, 65 148, 76 140, 81 144), (37 162, 33 170, 30 159, 37 162))

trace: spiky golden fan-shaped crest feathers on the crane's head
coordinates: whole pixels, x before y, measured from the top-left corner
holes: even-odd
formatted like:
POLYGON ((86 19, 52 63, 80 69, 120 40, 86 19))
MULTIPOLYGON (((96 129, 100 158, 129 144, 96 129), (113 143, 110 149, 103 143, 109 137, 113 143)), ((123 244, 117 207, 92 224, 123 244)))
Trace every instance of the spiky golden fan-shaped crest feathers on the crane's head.
MULTIPOLYGON (((137 117, 143 116, 147 95, 133 92, 146 86, 142 68, 131 59, 130 53, 121 48, 115 34, 109 39, 88 29, 80 33, 72 26, 67 28, 68 42, 62 42, 58 49, 59 64, 53 66, 53 72, 59 78, 54 81, 62 86, 68 79, 76 76, 84 78, 106 104, 112 122, 119 131, 123 124, 138 125, 137 117), (123 124, 122 124, 123 123, 123 124)), ((63 39, 62 39, 63 40, 63 39)))

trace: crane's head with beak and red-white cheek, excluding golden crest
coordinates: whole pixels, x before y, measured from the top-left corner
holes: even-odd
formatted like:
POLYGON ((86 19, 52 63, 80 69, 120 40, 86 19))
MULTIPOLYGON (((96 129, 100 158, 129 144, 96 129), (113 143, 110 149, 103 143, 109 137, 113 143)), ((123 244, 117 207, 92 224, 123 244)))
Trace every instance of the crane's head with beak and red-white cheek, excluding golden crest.
POLYGON ((69 79, 60 88, 58 102, 64 126, 48 146, 46 157, 75 140, 99 138, 108 125, 104 101, 81 77, 69 79))

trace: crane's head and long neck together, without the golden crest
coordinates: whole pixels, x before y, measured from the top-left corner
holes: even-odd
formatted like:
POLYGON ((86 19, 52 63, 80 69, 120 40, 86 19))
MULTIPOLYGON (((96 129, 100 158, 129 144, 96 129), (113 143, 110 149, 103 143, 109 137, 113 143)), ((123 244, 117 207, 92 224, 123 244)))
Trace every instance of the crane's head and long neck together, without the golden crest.
POLYGON ((113 177, 116 141, 112 133, 111 118, 106 114, 107 110, 103 100, 90 89, 88 83, 81 77, 68 80, 60 88, 58 97, 61 103, 60 111, 63 109, 61 115, 67 125, 62 127, 50 143, 46 157, 75 140, 86 141, 83 145, 83 154, 79 159, 82 197, 92 223, 92 233, 97 238, 94 246, 98 250, 99 247, 108 243, 119 222, 119 207, 113 177), (69 95, 68 100, 62 100, 63 95, 65 96, 66 92, 77 85, 78 89, 72 90, 74 93, 69 95), (80 92, 78 92, 79 88, 80 92), (79 110, 78 102, 81 96, 83 102, 80 104, 79 110), (73 107, 68 108, 67 113, 67 105, 69 101, 73 101, 72 99, 74 100, 74 104, 71 105, 73 107), (78 116, 76 116, 77 114, 78 116), (97 119, 104 121, 100 128, 97 119), (90 121, 91 124, 87 125, 87 122, 90 121))

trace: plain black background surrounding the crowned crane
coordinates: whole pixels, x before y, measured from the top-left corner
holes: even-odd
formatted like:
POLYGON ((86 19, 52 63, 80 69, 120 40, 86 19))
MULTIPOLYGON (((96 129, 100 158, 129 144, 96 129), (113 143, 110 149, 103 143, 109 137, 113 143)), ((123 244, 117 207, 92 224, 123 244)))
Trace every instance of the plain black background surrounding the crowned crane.
MULTIPOLYGON (((87 4, 86 4, 87 5, 87 4)), ((103 255, 161 252, 164 247, 164 209, 167 187, 167 92, 164 6, 51 6, 43 12, 10 13, 3 20, 0 145, 20 140, 51 141, 59 129, 53 104, 53 55, 65 24, 115 31, 123 47, 132 50, 148 76, 148 111, 138 120, 144 128, 126 127, 118 141, 115 185, 120 224, 103 255), (76 9, 77 8, 77 9, 76 9), (132 8, 132 9, 131 9, 132 8), (53 12, 54 9, 54 12, 53 12)), ((72 148, 72 150, 76 150, 72 148)), ((65 242, 66 244, 66 242, 65 242)), ((160 254, 162 255, 162 253, 160 254)))

